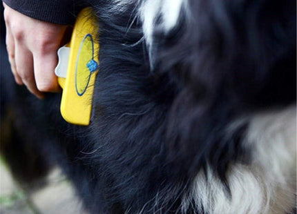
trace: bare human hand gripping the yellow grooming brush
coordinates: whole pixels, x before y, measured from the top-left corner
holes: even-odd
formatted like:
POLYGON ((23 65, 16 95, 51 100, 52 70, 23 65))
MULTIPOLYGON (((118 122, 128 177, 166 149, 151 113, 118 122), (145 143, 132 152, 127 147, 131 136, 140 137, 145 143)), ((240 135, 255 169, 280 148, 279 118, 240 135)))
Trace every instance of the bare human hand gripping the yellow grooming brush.
POLYGON ((67 26, 27 17, 5 3, 6 48, 17 84, 25 84, 39 99, 60 90, 55 76, 57 50, 67 26))

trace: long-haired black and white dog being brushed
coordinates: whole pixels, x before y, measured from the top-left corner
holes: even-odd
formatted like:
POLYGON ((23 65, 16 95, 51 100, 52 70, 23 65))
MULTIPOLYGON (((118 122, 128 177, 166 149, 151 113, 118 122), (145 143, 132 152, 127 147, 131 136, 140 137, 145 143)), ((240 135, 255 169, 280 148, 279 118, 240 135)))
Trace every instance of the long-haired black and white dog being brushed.
POLYGON ((296 1, 106 0, 93 10, 90 126, 67 124, 60 95, 39 101, 1 68, 12 171, 30 181, 60 164, 90 213, 294 212, 296 1))

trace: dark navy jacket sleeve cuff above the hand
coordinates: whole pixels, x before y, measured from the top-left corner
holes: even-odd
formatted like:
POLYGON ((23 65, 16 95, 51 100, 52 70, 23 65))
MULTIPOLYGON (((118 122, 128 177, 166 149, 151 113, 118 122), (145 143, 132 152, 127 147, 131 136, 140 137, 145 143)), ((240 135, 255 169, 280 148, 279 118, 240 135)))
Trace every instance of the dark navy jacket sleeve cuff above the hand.
POLYGON ((80 10, 75 0, 3 0, 28 17, 59 24, 72 24, 80 10))

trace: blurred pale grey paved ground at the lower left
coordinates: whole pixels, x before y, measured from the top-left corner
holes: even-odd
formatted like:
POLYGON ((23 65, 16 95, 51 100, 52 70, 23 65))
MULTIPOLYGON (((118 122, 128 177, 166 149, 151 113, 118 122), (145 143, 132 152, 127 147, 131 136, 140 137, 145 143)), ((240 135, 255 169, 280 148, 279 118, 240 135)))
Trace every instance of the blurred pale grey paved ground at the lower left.
POLYGON ((70 182, 55 168, 48 184, 34 193, 26 193, 12 179, 3 161, 0 162, 0 214, 86 214, 75 196, 70 182))

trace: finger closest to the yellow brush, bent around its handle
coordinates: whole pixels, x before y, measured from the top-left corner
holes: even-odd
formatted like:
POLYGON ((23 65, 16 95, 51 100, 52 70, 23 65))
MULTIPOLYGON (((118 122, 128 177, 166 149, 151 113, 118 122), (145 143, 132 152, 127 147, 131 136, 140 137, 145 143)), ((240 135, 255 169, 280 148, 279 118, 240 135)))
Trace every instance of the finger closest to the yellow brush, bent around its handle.
POLYGON ((57 51, 46 52, 44 55, 33 52, 34 74, 37 88, 41 92, 59 92, 55 67, 57 66, 57 51))

